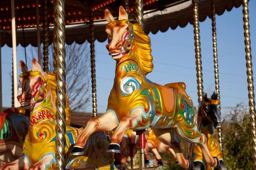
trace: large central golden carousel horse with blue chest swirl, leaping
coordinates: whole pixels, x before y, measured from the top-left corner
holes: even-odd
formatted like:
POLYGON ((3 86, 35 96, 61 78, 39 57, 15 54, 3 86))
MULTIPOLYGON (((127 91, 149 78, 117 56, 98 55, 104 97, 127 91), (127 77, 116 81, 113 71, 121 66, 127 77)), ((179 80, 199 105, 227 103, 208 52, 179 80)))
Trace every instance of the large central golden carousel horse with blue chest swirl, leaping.
MULTIPOLYGON (((191 98, 185 92, 184 83, 158 85, 146 78, 153 70, 150 38, 139 24, 128 21, 123 7, 115 20, 105 10, 108 22, 106 45, 110 56, 116 60, 116 75, 108 99, 105 114, 90 119, 79 134, 71 155, 83 154, 88 137, 97 131, 113 131, 108 152, 120 152, 119 143, 128 129, 143 130, 151 127, 164 144, 171 145, 171 129, 190 143, 197 143, 203 151, 207 164, 219 166, 207 145, 205 135, 196 126, 195 111, 191 98)), ((172 146, 171 146, 172 147, 172 146)), ((181 167, 191 167, 179 148, 172 147, 181 167)))

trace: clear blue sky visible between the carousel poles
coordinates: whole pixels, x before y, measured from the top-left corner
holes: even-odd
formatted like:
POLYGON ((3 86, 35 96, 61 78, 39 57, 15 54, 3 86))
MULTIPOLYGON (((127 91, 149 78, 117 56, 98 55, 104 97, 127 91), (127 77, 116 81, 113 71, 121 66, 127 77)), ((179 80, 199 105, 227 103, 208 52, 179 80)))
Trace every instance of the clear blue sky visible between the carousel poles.
MULTIPOLYGON (((256 1, 249 2, 250 31, 252 56, 256 56, 256 1)), ((233 107, 237 103, 248 104, 246 62, 244 51, 242 7, 233 8, 221 16, 216 16, 217 22, 217 53, 219 64, 220 102, 222 108, 233 107)), ((169 29, 165 33, 149 34, 152 43, 154 69, 148 74, 148 79, 164 85, 172 82, 185 82, 187 93, 194 105, 197 105, 197 78, 193 25, 185 28, 169 29)), ((202 54, 204 91, 212 93, 215 89, 212 29, 211 19, 200 22, 200 40, 202 54)), ((109 92, 115 75, 115 61, 108 55, 105 48, 107 42, 95 43, 96 77, 98 112, 104 113, 109 92)), ((30 56, 30 48, 27 54, 30 56)), ((24 60, 24 50, 19 45, 17 60, 24 60)), ((3 106, 11 106, 11 61, 12 49, 6 45, 1 48, 3 106)), ((255 60, 253 58, 253 64, 255 60)), ((20 73, 20 71, 18 72, 20 73)), ((254 67, 254 78, 256 68, 254 67)), ((210 94, 208 94, 210 96, 210 94)), ((92 104, 86 111, 91 112, 92 104)))

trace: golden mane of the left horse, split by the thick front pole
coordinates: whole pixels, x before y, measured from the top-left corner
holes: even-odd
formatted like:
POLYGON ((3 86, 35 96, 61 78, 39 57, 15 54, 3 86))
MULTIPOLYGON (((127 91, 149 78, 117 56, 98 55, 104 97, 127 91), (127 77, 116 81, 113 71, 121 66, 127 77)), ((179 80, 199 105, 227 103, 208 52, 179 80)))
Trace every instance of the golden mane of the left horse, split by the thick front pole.
MULTIPOLYGON (((52 97, 53 97, 53 101, 55 103, 55 101, 57 100, 57 94, 56 94, 56 86, 57 86, 57 82, 56 82, 56 75, 54 73, 46 73, 47 74, 47 85, 48 88, 51 90, 52 92, 52 97)), ((66 100, 66 107, 65 107, 65 113, 66 113, 66 122, 68 124, 71 123, 71 119, 70 119, 70 107, 69 107, 69 100, 67 98, 67 94, 65 95, 65 100, 66 100)))

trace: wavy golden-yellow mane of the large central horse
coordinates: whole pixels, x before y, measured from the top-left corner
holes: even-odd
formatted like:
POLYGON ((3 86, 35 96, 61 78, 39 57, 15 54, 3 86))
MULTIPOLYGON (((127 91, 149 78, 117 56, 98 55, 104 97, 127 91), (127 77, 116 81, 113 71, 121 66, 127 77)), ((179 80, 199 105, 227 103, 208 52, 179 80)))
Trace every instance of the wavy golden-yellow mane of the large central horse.
POLYGON ((138 64, 143 74, 147 75, 153 70, 153 56, 151 55, 151 42, 139 24, 132 24, 134 41, 138 50, 138 64))

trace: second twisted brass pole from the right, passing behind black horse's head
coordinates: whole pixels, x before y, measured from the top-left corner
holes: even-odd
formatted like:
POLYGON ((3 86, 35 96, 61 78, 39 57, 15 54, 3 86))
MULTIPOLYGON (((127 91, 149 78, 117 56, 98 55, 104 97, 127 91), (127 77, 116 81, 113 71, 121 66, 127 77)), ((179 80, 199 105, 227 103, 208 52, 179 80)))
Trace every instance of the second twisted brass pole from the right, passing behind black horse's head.
MULTIPOLYGON (((218 56, 217 56, 217 38, 216 38, 216 18, 215 18, 215 0, 211 0, 211 6, 212 6, 212 32, 213 32, 212 35, 213 35, 215 89, 216 89, 216 92, 217 92, 217 95, 218 95, 218 100, 220 101, 219 76, 218 76, 218 56)), ((219 105, 219 111, 220 111, 220 105, 219 105)), ((217 131, 218 131, 219 146, 223 151, 221 128, 218 128, 217 131)))

